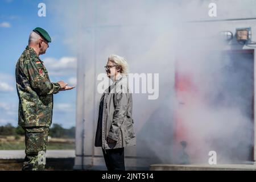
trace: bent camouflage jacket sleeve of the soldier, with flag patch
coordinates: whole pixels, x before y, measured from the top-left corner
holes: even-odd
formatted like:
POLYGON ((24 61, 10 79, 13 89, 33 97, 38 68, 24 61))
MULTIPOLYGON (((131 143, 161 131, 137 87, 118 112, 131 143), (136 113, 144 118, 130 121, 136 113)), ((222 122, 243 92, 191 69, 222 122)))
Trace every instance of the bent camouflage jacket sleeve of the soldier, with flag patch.
POLYGON ((44 68, 36 65, 33 60, 26 61, 23 73, 30 81, 31 88, 39 95, 55 94, 61 88, 59 84, 51 82, 44 68))

